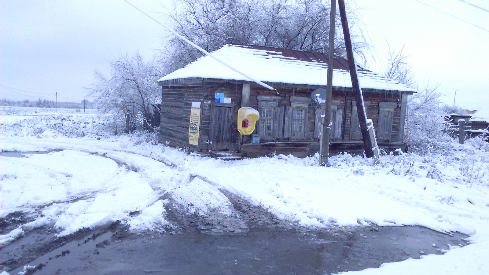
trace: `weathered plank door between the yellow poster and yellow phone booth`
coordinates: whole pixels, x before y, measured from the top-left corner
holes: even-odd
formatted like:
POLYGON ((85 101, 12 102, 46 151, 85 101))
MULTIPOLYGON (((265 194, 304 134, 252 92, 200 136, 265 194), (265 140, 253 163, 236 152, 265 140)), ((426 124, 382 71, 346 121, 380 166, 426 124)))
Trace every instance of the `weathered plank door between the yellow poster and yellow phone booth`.
POLYGON ((231 107, 212 106, 209 150, 233 150, 233 113, 231 107))

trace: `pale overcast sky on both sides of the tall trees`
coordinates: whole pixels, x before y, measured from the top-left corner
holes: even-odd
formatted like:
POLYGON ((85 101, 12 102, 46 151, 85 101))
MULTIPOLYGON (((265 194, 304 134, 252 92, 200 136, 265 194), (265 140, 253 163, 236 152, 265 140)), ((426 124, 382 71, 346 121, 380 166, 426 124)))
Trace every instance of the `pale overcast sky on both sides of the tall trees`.
MULTIPOLYGON (((440 84, 449 105, 457 91, 456 105, 489 106, 489 2, 465 1, 482 9, 461 0, 348 1, 358 7, 358 26, 371 45, 369 68, 383 69, 387 42, 391 49, 404 46, 419 86, 440 84)), ((170 0, 131 2, 160 20, 172 7, 170 0)), ((0 98, 54 100, 58 92, 59 101, 81 101, 95 69, 125 52, 151 58, 165 33, 122 0, 0 5, 0 98)))

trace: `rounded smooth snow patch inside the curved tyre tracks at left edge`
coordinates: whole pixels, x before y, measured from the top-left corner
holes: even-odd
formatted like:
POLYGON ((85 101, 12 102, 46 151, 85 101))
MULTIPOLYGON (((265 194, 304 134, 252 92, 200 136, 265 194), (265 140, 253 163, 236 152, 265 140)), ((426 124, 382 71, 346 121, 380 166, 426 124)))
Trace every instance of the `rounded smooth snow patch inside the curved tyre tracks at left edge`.
POLYGON ((63 201, 100 190, 118 172, 113 160, 65 150, 1 157, 3 207, 0 217, 15 210, 63 201), (83 165, 80 165, 83 163, 83 165))

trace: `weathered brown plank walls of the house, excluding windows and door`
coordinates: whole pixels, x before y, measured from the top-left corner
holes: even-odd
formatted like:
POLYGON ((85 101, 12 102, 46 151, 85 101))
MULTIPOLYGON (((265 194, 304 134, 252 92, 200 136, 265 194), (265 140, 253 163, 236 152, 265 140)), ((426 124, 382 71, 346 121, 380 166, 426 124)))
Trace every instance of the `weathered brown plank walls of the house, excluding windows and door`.
MULTIPOLYGON (((209 141, 209 130, 210 130, 210 119, 211 110, 213 106, 219 106, 222 104, 215 103, 215 93, 223 92, 225 97, 231 98, 231 104, 227 106, 232 107, 232 138, 229 150, 241 151, 244 154, 251 155, 256 154, 266 154, 267 152, 276 152, 284 154, 294 154, 294 155, 313 155, 319 149, 319 140, 314 138, 314 123, 315 123, 315 107, 308 107, 308 117, 307 117, 307 132, 306 143, 298 142, 296 145, 290 145, 288 141, 289 138, 275 138, 276 142, 287 142, 287 143, 277 143, 276 145, 260 145, 253 146, 246 143, 246 145, 240 148, 241 135, 237 131, 237 112, 241 107, 241 94, 242 94, 242 83, 236 81, 224 81, 224 80, 193 80, 191 86, 185 86, 185 83, 180 83, 179 86, 165 86, 162 89, 162 105, 161 105, 161 123, 160 123, 160 135, 159 141, 165 142, 169 141, 172 144, 181 147, 189 147, 190 150, 195 151, 205 151, 208 149, 209 141), (188 144, 188 127, 190 123, 190 108, 192 101, 201 102, 201 114, 200 114, 200 143, 199 146, 193 146, 188 144), (282 145, 281 145, 282 144, 282 145), (305 145, 306 144, 306 145, 305 145), (268 150, 268 151, 267 151, 268 150)), ((318 87, 311 86, 294 86, 294 85, 281 85, 274 86, 277 91, 271 91, 261 86, 251 84, 250 85, 250 96, 249 96, 249 106, 258 109, 258 95, 265 96, 280 96, 278 101, 278 107, 291 106, 290 96, 299 96, 311 98, 311 92, 318 87)), ((377 126, 378 123, 378 112, 379 112, 379 102, 397 102, 398 105, 394 109, 394 119, 392 123, 391 131, 391 141, 398 141, 399 131, 400 131, 400 97, 398 92, 384 93, 384 92, 373 92, 364 91, 364 99, 370 101, 370 106, 367 109, 367 117, 372 119, 374 125, 377 126)), ((353 93, 349 89, 333 90, 333 100, 339 100, 337 106, 338 110, 343 111, 342 121, 341 121, 341 141, 350 141, 350 121, 352 119, 352 100, 355 100, 353 93)), ((311 100, 312 101, 312 100, 311 100)), ((280 109, 281 110, 281 109, 280 109)), ((278 112, 278 114, 282 114, 278 112)), ((280 120, 280 119, 279 119, 280 120)), ((256 131, 255 131, 256 132, 256 131)), ((282 137, 281 135, 276 135, 277 137, 282 137)), ((241 139, 243 142, 248 142, 247 138, 241 139)), ((388 143, 381 142, 384 147, 398 146, 400 143, 388 143), (399 143, 399 144, 398 144, 399 143)), ((339 144, 339 143, 338 143, 339 144)), ((356 146, 361 147, 361 142, 359 145, 356 143, 346 142, 341 145, 334 144, 334 151, 347 150, 351 148, 353 150, 356 146)))

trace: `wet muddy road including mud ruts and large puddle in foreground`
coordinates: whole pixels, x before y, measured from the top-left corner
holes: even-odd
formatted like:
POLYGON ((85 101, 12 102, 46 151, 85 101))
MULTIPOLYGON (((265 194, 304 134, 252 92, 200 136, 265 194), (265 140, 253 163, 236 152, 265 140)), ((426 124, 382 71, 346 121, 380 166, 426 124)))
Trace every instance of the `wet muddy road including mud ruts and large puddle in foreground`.
MULTIPOLYGON (((227 195, 239 219, 182 214, 174 204, 167 209, 174 227, 161 232, 134 233, 118 222, 61 238, 52 228, 34 229, 0 249, 0 269, 11 275, 334 274, 467 245, 467 235, 422 227, 301 228, 227 195)), ((27 219, 7 218, 2 229, 27 219)))

